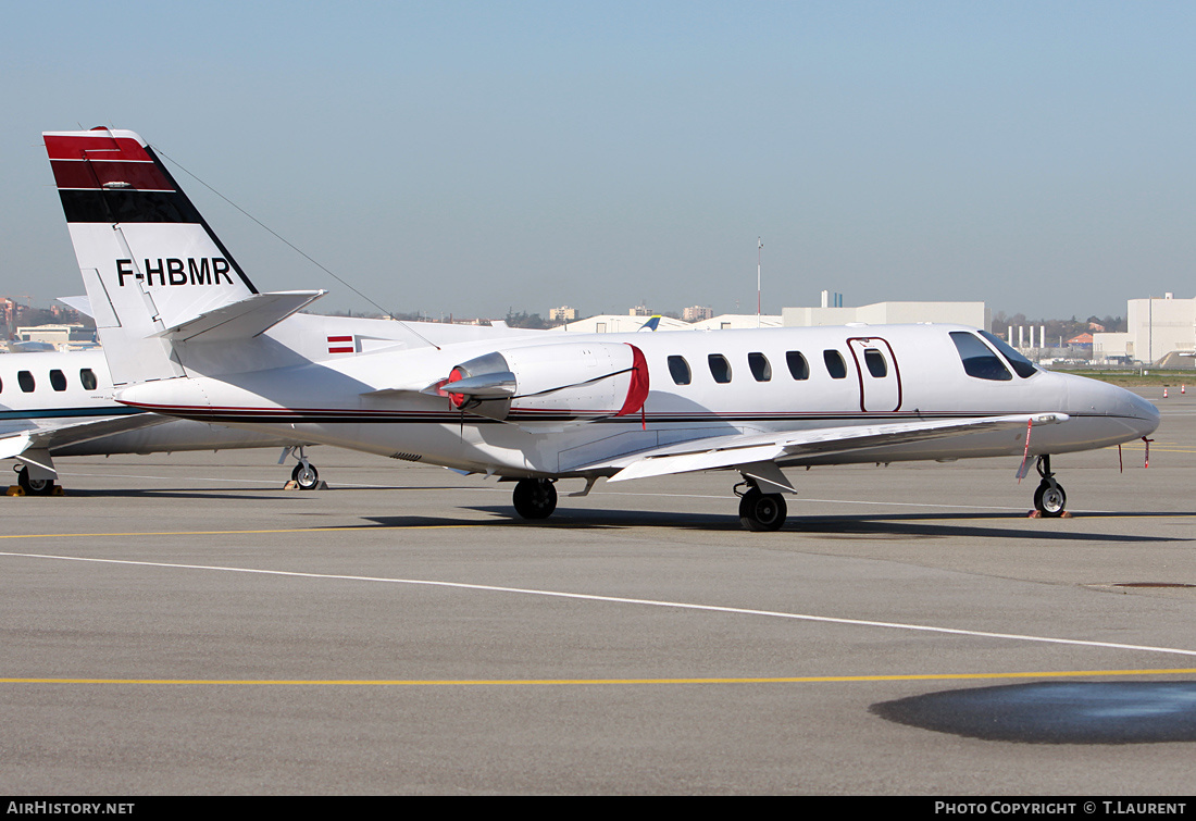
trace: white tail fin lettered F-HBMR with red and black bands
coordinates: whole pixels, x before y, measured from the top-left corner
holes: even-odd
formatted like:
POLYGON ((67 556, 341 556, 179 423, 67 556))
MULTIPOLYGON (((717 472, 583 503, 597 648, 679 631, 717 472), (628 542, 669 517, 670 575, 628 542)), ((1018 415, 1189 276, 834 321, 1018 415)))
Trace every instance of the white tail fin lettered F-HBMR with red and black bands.
POLYGON ((42 136, 114 382, 182 376, 164 332, 257 288, 140 136, 42 136))

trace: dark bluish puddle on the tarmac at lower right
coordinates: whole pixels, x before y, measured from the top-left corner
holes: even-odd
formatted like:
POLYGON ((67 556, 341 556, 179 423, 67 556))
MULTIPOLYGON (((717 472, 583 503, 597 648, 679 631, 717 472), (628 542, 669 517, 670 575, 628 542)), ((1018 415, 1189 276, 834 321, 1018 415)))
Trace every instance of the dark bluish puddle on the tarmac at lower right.
POLYGON ((898 724, 984 741, 1146 744, 1196 741, 1196 682, 1044 681, 884 701, 898 724))

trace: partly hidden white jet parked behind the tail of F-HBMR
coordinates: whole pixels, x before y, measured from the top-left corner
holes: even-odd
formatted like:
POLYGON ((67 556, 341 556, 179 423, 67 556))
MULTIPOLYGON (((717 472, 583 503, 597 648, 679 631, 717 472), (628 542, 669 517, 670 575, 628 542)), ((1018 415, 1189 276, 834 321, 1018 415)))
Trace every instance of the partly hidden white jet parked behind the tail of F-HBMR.
POLYGON ((0 458, 17 461, 17 484, 26 494, 54 492, 57 456, 237 448, 285 448, 283 458, 298 460, 291 479, 304 489, 318 485, 305 443, 294 436, 159 416, 116 402, 112 393, 99 351, 0 357, 0 458))

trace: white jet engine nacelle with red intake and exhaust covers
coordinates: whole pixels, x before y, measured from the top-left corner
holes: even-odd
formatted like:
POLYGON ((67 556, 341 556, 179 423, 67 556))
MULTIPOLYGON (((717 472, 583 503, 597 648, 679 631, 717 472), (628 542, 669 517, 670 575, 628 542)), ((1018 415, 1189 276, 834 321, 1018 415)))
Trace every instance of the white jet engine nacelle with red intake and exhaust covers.
POLYGON ((648 367, 626 342, 557 342, 464 361, 440 384, 462 410, 505 420, 622 416, 643 407, 648 367))

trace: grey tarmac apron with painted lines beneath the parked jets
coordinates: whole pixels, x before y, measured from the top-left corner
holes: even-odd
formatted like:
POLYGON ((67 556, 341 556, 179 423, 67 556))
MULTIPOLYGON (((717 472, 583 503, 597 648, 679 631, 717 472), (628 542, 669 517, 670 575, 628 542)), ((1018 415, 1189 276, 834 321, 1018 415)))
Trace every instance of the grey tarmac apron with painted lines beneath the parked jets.
POLYGON ((726 473, 527 523, 327 448, 62 460, 0 500, 0 792, 1186 795, 1196 399, 1145 395, 1063 519, 1015 458, 792 470, 770 534, 726 473))

